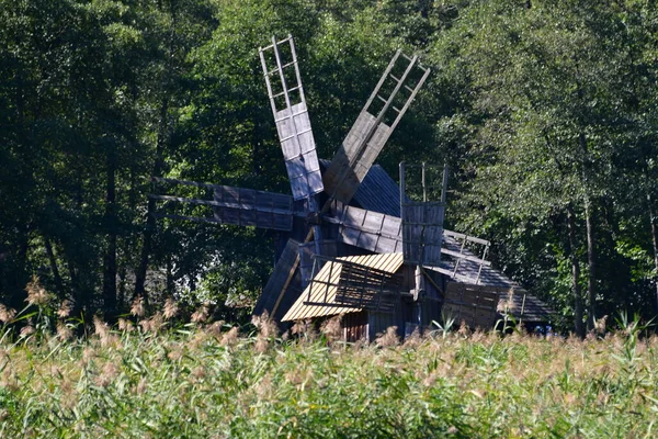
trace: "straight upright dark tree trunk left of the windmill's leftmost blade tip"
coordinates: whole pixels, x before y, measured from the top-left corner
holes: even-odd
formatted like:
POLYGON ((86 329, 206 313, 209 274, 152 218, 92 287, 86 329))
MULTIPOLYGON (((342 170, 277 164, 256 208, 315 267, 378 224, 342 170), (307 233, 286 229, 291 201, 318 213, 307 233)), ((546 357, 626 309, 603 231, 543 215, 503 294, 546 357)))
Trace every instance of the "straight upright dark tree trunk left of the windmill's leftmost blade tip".
POLYGON ((103 257, 103 312, 105 318, 112 322, 116 314, 116 157, 114 146, 110 148, 105 195, 107 248, 103 257))

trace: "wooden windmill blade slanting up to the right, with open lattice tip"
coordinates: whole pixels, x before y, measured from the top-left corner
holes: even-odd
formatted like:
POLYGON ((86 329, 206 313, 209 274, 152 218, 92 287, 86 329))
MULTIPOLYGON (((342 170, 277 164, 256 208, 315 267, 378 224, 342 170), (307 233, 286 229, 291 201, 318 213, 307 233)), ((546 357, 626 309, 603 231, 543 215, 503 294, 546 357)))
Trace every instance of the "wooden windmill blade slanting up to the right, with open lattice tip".
POLYGON ((395 54, 325 172, 325 187, 332 198, 345 204, 352 200, 429 74, 418 57, 409 58, 400 50, 395 54))

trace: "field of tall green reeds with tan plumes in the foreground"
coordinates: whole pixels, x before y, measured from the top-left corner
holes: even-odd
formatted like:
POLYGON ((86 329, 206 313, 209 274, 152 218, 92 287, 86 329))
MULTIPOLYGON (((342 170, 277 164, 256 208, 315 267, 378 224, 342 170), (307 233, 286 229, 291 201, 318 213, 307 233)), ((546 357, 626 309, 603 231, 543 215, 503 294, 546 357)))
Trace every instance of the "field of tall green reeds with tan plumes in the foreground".
MULTIPOLYGON (((435 334, 345 346, 161 317, 0 345, 0 437, 655 437, 658 339, 435 334)), ((5 329, 7 331, 7 329, 5 329)), ((10 339, 13 341, 10 342, 10 339)))

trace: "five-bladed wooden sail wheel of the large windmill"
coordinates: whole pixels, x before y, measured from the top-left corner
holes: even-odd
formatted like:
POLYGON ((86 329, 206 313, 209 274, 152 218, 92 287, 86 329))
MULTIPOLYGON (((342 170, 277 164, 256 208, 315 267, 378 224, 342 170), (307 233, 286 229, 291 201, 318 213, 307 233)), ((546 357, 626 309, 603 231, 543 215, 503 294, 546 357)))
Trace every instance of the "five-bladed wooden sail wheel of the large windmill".
POLYGON ((337 256, 342 245, 375 252, 401 250, 399 218, 350 205, 384 144, 421 89, 430 70, 418 57, 398 50, 333 159, 322 175, 308 116, 293 37, 259 49, 292 195, 155 178, 156 181, 206 188, 212 199, 151 194, 169 203, 208 205, 209 217, 156 212, 158 217, 256 226, 287 233, 257 312, 276 315, 291 284, 304 286, 311 275, 311 255, 337 256), (299 279, 295 279, 296 277, 299 279), (273 301, 273 303, 271 303, 273 301))

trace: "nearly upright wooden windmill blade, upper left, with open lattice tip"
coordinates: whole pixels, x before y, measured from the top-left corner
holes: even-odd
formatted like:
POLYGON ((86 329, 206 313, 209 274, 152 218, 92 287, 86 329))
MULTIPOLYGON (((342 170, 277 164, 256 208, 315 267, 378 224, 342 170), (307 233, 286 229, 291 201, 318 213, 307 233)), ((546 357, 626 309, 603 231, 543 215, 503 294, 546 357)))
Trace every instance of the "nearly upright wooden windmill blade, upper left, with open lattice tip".
POLYGON ((281 42, 272 37, 272 44, 261 47, 259 54, 293 198, 308 199, 322 192, 324 185, 293 37, 281 42), (273 69, 268 58, 274 63, 273 69))

